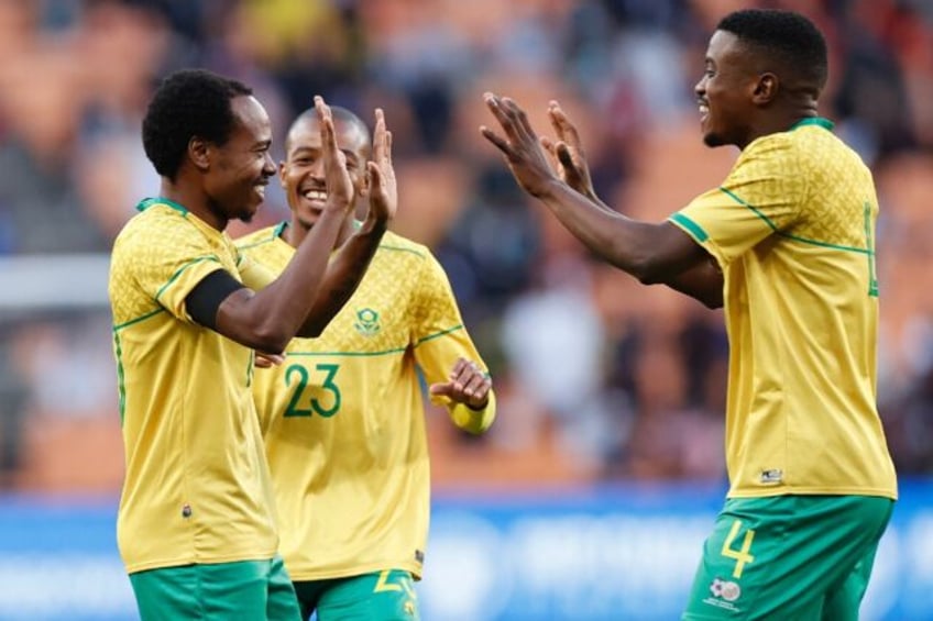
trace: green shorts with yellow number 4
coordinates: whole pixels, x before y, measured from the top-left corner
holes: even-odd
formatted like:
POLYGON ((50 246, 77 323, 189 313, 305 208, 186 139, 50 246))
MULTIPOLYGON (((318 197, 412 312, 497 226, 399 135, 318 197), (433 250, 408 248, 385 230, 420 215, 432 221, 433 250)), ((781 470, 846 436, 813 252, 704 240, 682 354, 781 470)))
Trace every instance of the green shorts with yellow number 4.
POLYGON ((682 619, 856 621, 893 506, 872 496, 726 500, 682 619))

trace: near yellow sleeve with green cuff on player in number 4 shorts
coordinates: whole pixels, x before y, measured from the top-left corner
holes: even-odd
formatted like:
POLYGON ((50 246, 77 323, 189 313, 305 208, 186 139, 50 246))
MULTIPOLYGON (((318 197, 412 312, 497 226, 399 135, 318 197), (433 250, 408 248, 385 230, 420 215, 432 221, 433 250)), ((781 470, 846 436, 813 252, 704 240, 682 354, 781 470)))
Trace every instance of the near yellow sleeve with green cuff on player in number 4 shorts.
POLYGON ((728 177, 670 217, 720 263, 726 266, 772 233, 786 231, 805 204, 805 158, 794 153, 787 134, 753 142, 728 177))

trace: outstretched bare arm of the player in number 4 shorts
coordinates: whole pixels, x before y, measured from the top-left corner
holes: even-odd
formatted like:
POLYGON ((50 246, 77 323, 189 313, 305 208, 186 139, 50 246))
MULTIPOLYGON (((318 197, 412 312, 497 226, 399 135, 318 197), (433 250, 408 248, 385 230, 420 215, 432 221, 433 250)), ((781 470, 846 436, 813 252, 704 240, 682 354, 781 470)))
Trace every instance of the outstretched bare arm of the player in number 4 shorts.
MULTIPOLYGON (((715 278, 702 267, 709 264, 709 253, 683 231, 669 222, 632 220, 605 207, 594 192, 585 196, 577 191, 555 174, 525 111, 515 101, 492 93, 486 93, 485 101, 505 135, 483 126, 483 136, 505 155, 522 189, 544 202, 592 252, 641 282, 665 284, 701 301, 711 298, 710 288, 716 280, 722 288, 722 277, 715 278)), ((566 170, 575 169, 578 178, 583 178, 573 166, 567 135, 562 137, 555 146, 557 157, 566 170)), ((585 179, 589 184, 588 171, 585 179)))

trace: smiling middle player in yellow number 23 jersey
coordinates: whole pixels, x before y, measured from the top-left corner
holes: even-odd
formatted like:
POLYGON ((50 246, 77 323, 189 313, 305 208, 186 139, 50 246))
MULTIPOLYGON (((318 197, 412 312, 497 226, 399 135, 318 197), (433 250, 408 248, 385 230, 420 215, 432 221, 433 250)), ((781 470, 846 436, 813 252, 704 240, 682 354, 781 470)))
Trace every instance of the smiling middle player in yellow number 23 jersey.
MULTIPOLYGON (((333 108, 355 199, 369 129, 333 108)), ((378 124, 378 121, 377 121, 378 124)), ((319 120, 299 115, 279 164, 292 218, 238 240, 279 271, 321 225, 329 192, 319 120)), ((359 226, 347 215, 338 243, 359 226)), ((282 555, 307 619, 418 619, 430 473, 419 370, 453 423, 479 434, 495 417, 490 376, 440 264, 388 232, 359 289, 323 333, 296 339, 257 370, 253 392, 278 507, 282 555)))

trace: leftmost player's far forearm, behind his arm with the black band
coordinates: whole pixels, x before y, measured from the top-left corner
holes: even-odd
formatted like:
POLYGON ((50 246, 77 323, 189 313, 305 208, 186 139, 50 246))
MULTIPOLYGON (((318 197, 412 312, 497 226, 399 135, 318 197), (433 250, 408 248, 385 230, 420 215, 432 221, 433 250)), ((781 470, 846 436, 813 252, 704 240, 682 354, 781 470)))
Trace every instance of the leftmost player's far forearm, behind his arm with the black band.
POLYGON ((315 299, 298 335, 318 336, 340 312, 360 285, 385 234, 386 224, 385 221, 366 220, 340 247, 327 266, 320 293, 315 299))

